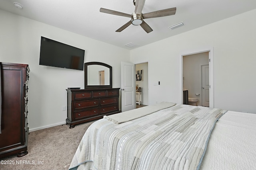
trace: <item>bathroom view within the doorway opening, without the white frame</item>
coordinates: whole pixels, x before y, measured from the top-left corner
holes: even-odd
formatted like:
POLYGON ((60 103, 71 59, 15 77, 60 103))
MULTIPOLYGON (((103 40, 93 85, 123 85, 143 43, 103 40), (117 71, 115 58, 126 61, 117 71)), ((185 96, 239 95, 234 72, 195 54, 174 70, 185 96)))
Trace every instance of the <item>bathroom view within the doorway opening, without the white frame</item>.
POLYGON ((188 104, 210 106, 210 51, 182 55, 182 88, 188 91, 188 104))

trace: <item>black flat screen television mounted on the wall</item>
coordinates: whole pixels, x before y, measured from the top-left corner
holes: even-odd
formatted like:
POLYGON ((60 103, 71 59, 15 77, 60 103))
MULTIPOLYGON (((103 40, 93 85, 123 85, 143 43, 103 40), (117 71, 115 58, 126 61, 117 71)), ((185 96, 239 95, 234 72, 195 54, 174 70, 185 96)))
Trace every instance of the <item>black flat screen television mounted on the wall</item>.
POLYGON ((39 65, 84 70, 84 50, 41 37, 39 65))

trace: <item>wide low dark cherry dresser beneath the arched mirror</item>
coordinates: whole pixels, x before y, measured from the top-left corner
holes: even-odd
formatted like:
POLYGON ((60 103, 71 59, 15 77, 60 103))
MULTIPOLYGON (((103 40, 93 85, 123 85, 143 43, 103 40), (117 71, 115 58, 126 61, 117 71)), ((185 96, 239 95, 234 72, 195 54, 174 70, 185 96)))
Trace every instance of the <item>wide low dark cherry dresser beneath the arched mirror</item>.
POLYGON ((68 115, 66 123, 73 128, 76 124, 101 119, 103 115, 120 113, 120 88, 66 89, 68 115))

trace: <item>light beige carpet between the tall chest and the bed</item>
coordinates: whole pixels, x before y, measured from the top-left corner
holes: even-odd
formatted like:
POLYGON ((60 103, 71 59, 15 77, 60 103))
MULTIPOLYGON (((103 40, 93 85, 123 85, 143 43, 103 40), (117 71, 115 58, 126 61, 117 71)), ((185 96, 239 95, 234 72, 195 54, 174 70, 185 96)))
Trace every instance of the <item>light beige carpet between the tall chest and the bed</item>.
POLYGON ((59 125, 30 132, 28 154, 1 158, 0 170, 68 170, 82 136, 93 122, 72 129, 59 125))

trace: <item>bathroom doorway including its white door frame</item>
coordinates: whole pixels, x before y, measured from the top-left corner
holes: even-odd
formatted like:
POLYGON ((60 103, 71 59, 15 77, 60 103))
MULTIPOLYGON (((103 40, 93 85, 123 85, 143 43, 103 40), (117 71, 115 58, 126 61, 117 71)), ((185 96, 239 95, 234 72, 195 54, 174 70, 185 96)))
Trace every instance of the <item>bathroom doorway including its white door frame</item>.
MULTIPOLYGON (((181 92, 188 89, 188 97, 198 99, 196 105, 214 107, 213 49, 181 55, 181 92)), ((181 94, 181 103, 183 95, 181 94)))

